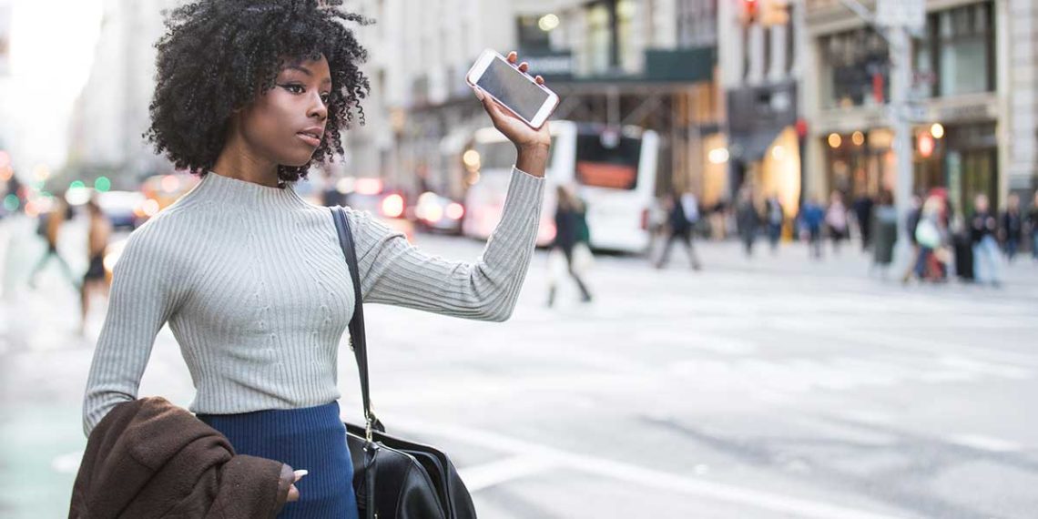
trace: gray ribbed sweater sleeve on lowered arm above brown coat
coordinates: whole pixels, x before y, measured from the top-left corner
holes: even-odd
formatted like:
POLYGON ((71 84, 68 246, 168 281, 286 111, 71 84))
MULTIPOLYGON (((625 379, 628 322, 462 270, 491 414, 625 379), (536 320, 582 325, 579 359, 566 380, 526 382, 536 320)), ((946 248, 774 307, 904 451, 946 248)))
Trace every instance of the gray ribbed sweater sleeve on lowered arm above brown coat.
POLYGON ((174 307, 174 237, 157 233, 156 220, 127 240, 112 271, 108 312, 98 337, 83 399, 83 432, 115 405, 137 399, 155 337, 174 307))

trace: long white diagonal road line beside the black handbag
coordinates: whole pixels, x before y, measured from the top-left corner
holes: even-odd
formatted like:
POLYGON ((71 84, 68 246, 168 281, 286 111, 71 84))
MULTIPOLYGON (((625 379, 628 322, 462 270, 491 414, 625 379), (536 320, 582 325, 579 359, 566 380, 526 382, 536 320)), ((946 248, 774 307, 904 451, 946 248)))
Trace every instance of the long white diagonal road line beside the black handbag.
MULTIPOLYGON (((650 488, 708 497, 771 512, 796 514, 801 517, 818 519, 892 519, 896 517, 850 509, 838 504, 830 504, 822 501, 789 497, 770 492, 762 492, 725 483, 705 482, 692 477, 685 477, 670 472, 649 469, 605 458, 568 453, 546 445, 531 443, 518 438, 512 438, 491 431, 484 431, 469 427, 432 424, 411 419, 399 419, 395 417, 393 418, 393 425, 410 431, 420 432, 422 434, 442 436, 456 441, 463 441, 487 448, 513 453, 517 458, 521 457, 526 460, 516 460, 513 462, 515 464, 513 470, 516 473, 519 472, 519 468, 523 467, 532 470, 534 468, 537 468, 535 463, 536 460, 547 459, 559 466, 567 466, 569 468, 614 480, 626 481, 650 488)), ((515 459, 510 458, 509 460, 515 459)), ((507 465, 502 464, 498 473, 506 473, 507 467, 507 465)))

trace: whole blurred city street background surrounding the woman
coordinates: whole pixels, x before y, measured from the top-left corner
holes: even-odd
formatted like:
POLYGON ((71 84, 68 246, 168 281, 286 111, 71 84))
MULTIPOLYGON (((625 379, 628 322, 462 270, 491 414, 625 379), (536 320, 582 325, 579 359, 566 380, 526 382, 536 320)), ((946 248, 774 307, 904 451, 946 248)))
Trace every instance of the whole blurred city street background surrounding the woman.
MULTIPOLYGON (((66 516, 111 268, 197 182, 141 139, 180 3, 0 0, 2 517, 66 516)), ((313 203, 474 260, 514 151, 465 73, 562 98, 513 319, 367 312, 380 417, 482 516, 1036 517, 1034 0, 347 3, 366 125, 313 203)), ((167 328, 140 392, 191 401, 167 328)))

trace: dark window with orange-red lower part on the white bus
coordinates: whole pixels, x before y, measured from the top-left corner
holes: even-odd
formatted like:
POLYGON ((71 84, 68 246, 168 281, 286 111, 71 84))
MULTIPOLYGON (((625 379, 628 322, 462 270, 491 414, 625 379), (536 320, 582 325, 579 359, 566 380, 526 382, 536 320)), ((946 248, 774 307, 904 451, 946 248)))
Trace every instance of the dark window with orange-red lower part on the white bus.
POLYGON ((596 188, 637 187, 641 139, 620 137, 612 144, 603 143, 599 134, 577 136, 577 182, 596 188))

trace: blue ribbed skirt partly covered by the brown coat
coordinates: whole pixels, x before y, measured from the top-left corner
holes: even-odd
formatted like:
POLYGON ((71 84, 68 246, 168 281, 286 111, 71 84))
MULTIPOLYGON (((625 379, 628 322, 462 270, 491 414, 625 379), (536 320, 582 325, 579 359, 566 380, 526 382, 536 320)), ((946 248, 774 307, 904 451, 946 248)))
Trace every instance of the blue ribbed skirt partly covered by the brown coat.
POLYGON ((357 519, 353 462, 346 444, 346 427, 338 417, 338 402, 303 409, 197 416, 223 433, 240 455, 309 471, 296 483, 299 500, 285 503, 279 519, 357 519))

